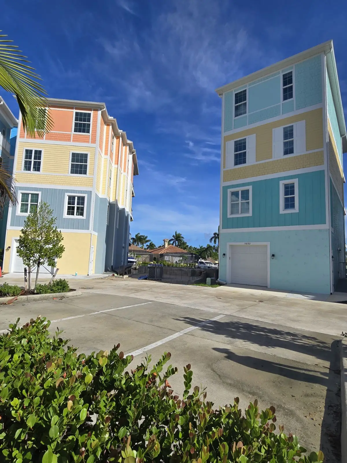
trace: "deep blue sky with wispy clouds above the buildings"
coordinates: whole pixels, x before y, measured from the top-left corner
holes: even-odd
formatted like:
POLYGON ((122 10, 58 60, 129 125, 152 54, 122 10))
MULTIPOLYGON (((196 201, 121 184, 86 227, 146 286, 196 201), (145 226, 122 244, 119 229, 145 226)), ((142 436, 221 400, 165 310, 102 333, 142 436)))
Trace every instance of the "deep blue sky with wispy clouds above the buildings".
MULTIPOLYGON (((214 89, 328 39, 347 110, 347 4, 326 1, 17 0, 0 28, 50 97, 103 101, 136 148, 130 232, 155 244, 217 231, 221 101, 214 89), (327 6, 328 5, 328 6, 327 6)), ((18 115, 11 95, 2 92, 18 115)))

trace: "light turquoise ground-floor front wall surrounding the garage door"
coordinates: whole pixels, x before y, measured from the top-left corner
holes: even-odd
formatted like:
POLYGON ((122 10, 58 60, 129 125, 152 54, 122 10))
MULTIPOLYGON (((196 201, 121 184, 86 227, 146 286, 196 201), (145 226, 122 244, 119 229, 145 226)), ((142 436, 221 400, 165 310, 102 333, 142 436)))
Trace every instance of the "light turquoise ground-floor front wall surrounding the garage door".
POLYGON ((270 287, 330 293, 329 230, 286 230, 220 234, 219 278, 226 281, 227 243, 270 243, 270 287), (225 253, 225 257, 223 256, 225 253))

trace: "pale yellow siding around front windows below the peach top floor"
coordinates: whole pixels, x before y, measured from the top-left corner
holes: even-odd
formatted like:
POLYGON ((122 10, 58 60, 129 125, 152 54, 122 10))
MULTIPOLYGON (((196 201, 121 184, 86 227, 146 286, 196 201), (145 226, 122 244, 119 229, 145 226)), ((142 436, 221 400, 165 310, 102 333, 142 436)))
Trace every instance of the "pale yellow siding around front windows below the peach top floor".
POLYGON ((17 171, 22 170, 25 148, 43 150, 42 172, 47 174, 68 174, 71 151, 89 153, 89 169, 87 175, 93 175, 95 148, 91 148, 90 146, 20 142, 18 145, 17 171))

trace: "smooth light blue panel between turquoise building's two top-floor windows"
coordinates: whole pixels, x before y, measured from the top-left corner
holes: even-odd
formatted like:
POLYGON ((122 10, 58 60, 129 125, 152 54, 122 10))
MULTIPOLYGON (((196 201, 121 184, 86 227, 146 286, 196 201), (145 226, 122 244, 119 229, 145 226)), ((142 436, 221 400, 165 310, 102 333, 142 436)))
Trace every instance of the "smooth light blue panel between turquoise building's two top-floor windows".
POLYGON ((281 101, 280 76, 261 82, 248 88, 248 112, 254 113, 260 109, 274 106, 281 101))

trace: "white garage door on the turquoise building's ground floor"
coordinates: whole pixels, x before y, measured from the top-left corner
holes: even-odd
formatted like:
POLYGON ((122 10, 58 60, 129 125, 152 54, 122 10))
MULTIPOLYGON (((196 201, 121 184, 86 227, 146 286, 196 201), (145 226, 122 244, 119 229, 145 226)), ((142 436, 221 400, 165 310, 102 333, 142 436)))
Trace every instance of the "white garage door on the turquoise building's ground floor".
POLYGON ((267 246, 230 246, 230 283, 267 287, 267 246))

